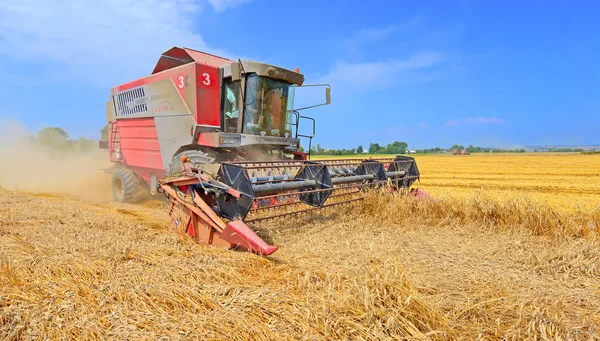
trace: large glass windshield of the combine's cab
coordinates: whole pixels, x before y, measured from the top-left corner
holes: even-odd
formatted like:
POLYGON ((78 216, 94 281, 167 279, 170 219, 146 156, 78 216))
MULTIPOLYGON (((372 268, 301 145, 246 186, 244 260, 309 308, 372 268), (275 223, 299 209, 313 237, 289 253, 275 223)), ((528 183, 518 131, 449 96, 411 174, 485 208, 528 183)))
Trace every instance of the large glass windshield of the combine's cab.
POLYGON ((248 75, 244 93, 244 134, 292 134, 294 87, 278 80, 248 75))

